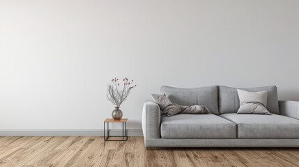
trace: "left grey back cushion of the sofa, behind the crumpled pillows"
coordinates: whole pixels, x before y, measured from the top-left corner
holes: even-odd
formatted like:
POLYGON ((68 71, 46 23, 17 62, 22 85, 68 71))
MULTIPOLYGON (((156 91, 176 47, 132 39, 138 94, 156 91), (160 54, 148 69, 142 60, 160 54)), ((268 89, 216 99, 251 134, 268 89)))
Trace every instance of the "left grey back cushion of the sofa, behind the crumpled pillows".
POLYGON ((165 93, 172 103, 181 106, 206 106, 211 113, 219 115, 217 86, 206 86, 201 88, 174 88, 170 86, 161 86, 160 93, 165 93))

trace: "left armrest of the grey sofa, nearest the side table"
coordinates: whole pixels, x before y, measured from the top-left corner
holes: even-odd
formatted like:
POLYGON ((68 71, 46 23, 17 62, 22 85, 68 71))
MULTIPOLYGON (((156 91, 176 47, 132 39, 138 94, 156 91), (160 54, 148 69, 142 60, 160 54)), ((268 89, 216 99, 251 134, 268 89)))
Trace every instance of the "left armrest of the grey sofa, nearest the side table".
POLYGON ((144 102, 142 111, 142 131, 146 138, 160 138, 160 107, 153 100, 144 102))

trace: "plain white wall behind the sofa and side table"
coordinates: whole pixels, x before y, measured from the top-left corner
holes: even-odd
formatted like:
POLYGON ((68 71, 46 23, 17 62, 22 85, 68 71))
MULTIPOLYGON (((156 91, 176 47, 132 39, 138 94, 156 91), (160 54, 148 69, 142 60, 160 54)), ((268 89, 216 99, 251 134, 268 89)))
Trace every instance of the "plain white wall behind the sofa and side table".
MULTIPOLYGON (((299 100, 299 1, 0 1, 0 130, 102 129, 114 77, 141 109, 161 85, 277 85, 299 100)), ((114 126, 118 129, 119 127, 114 126)))

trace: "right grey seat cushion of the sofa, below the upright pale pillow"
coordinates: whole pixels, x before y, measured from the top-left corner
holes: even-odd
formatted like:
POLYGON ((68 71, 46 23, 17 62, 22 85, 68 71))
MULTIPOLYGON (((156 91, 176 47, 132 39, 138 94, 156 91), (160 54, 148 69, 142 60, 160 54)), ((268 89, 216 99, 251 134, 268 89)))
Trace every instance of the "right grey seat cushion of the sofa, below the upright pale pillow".
POLYGON ((299 138, 299 120, 272 115, 226 113, 220 115, 235 122, 238 138, 299 138))

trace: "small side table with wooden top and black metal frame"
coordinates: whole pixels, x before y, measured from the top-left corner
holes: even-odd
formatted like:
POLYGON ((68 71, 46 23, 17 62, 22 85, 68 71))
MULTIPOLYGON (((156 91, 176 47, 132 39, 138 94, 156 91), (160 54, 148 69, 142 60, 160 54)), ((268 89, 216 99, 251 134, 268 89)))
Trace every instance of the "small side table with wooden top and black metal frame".
POLYGON ((121 120, 114 120, 112 118, 107 118, 104 121, 104 141, 127 141, 128 140, 128 134, 127 134, 127 121, 128 118, 123 118, 121 120), (125 129, 123 129, 123 136, 109 136, 109 122, 117 122, 117 123, 122 123, 123 125, 125 125, 125 129), (105 124, 107 123, 107 138, 106 138, 106 128, 105 128, 105 124), (125 132, 125 133, 124 133, 125 132), (112 140, 112 139, 108 139, 109 137, 122 137, 122 140, 112 140))

